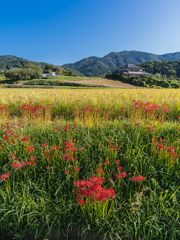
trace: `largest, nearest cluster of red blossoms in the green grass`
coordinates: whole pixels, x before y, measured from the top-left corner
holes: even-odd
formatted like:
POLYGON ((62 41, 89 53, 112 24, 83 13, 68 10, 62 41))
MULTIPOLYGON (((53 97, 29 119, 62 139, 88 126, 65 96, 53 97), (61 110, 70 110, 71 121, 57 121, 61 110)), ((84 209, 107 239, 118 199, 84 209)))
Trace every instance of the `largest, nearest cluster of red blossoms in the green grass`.
POLYGON ((78 180, 74 182, 76 190, 76 201, 83 205, 85 204, 84 198, 90 198, 92 202, 103 202, 110 197, 116 197, 115 191, 112 188, 105 189, 101 186, 104 178, 92 176, 87 181, 78 180))

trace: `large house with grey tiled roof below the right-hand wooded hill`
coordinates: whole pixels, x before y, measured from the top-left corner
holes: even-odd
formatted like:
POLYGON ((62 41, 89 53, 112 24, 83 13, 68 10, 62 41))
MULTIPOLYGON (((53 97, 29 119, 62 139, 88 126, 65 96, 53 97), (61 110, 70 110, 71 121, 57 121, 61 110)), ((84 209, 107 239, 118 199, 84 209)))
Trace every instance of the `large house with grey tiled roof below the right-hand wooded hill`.
POLYGON ((152 75, 151 73, 145 72, 143 67, 136 66, 134 64, 128 64, 121 68, 122 71, 116 73, 127 77, 141 77, 142 75, 152 75))

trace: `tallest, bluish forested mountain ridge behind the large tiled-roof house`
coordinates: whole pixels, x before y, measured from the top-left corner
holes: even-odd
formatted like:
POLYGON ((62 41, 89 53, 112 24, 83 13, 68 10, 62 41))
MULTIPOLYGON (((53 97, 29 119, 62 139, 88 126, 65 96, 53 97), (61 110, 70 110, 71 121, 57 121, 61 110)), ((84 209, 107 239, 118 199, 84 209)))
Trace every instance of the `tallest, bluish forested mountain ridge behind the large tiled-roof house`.
POLYGON ((84 58, 81 61, 64 64, 62 67, 75 70, 85 76, 102 76, 109 71, 114 71, 126 64, 138 64, 147 61, 179 60, 180 52, 156 55, 139 51, 111 52, 100 57, 84 58))

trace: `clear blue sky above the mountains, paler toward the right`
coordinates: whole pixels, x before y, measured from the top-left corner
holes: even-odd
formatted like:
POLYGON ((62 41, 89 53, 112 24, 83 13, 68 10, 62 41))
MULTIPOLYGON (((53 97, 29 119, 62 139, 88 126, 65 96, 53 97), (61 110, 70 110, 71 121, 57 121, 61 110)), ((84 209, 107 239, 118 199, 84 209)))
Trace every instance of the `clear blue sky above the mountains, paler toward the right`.
POLYGON ((8 0, 0 55, 56 65, 110 52, 180 51, 180 0, 8 0))

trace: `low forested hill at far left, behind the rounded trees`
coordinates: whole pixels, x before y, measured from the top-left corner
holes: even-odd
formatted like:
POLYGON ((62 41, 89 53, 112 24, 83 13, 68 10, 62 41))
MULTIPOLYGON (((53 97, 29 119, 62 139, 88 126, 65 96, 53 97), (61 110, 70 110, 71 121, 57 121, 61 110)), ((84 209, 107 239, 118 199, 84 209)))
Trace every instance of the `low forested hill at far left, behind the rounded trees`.
POLYGON ((25 65, 29 64, 38 65, 42 69, 44 69, 47 63, 29 61, 11 55, 0 56, 0 70, 9 70, 11 68, 23 68, 25 65))

